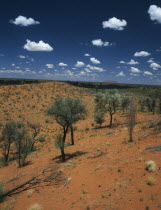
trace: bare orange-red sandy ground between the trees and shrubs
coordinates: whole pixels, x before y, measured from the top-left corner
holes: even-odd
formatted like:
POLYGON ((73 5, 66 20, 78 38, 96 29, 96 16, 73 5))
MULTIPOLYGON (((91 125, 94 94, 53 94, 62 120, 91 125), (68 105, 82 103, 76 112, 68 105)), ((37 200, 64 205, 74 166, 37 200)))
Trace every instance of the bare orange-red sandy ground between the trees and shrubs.
POLYGON ((27 158, 30 164, 18 168, 17 162, 12 161, 9 166, 0 168, 0 183, 5 184, 5 192, 46 169, 46 173, 40 176, 41 183, 28 185, 27 190, 17 191, 7 197, 0 204, 0 209, 25 210, 35 203, 45 210, 152 210, 161 207, 161 152, 146 150, 147 147, 160 145, 161 134, 149 128, 143 130, 143 126, 148 127, 150 120, 157 115, 138 113, 134 142, 128 143, 126 116, 121 112, 114 116, 114 127, 111 129, 107 127, 108 115, 103 128, 95 129, 92 126, 93 95, 85 89, 49 82, 3 86, 0 87, 0 94, 0 117, 3 124, 10 119, 24 123, 27 120, 37 121, 42 126, 40 136, 45 134, 45 142, 38 143, 37 150, 27 158), (68 134, 69 146, 65 148, 66 153, 82 154, 65 163, 55 158, 60 155, 60 151, 54 147, 54 136, 61 128, 52 117, 46 115, 46 110, 57 95, 82 98, 88 108, 87 118, 75 125, 75 145, 70 146, 68 134), (148 160, 155 161, 157 165, 153 173, 145 170, 145 162, 148 160), (61 171, 60 180, 43 182, 54 173, 53 170, 61 171), (146 183, 149 176, 155 179, 153 186, 146 183))

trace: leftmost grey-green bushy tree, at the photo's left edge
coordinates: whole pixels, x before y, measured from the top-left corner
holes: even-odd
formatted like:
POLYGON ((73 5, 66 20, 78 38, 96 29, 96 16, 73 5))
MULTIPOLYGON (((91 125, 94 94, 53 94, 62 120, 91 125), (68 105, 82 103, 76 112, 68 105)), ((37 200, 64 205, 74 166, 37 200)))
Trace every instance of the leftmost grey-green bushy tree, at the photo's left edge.
POLYGON ((11 144, 13 143, 16 130, 16 122, 7 122, 2 130, 0 147, 2 149, 3 164, 8 165, 11 144))

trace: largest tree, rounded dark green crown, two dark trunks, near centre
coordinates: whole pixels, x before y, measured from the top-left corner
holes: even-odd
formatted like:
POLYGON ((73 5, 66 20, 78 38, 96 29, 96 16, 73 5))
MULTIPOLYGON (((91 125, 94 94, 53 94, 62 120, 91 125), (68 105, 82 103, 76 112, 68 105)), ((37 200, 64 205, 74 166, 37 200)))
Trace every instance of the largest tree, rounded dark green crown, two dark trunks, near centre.
POLYGON ((63 128, 63 136, 61 139, 61 154, 62 160, 65 161, 64 145, 68 129, 71 128, 71 141, 74 145, 73 124, 84 119, 86 115, 86 107, 80 99, 72 98, 56 98, 51 108, 48 109, 48 114, 53 116, 56 122, 63 128))

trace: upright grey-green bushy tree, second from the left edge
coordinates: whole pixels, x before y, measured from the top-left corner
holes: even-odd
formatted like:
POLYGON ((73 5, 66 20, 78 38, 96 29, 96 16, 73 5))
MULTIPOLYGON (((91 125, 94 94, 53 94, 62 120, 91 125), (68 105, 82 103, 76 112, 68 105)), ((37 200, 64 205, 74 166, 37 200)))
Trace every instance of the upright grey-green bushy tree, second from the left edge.
POLYGON ((20 122, 16 122, 16 130, 14 135, 14 142, 16 147, 16 155, 19 167, 25 165, 27 155, 31 152, 32 141, 27 136, 27 130, 25 125, 20 122))

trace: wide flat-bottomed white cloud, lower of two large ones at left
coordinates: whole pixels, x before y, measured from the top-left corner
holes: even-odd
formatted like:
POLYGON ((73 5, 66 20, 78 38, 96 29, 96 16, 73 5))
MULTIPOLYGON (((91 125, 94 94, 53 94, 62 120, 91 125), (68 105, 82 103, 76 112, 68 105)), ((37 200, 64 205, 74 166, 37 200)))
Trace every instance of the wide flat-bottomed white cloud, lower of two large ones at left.
POLYGON ((42 40, 39 41, 38 43, 32 42, 30 40, 26 40, 27 43, 24 45, 24 49, 28 51, 52 51, 53 48, 47 44, 44 43, 42 40))

